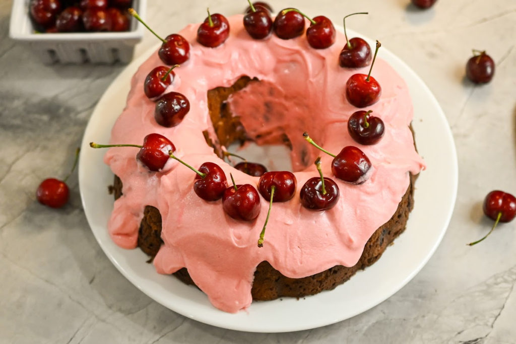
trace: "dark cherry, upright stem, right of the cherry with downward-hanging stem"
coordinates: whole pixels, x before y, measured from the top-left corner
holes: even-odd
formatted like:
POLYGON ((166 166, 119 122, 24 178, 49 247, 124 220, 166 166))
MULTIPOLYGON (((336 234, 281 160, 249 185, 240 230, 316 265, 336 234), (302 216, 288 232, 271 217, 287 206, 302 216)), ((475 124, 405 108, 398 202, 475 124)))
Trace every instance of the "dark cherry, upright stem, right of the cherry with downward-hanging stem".
POLYGON ((330 178, 324 178, 326 194, 322 194, 322 182, 320 177, 313 177, 304 183, 299 197, 301 205, 311 210, 328 210, 333 208, 338 201, 340 192, 337 184, 330 178))

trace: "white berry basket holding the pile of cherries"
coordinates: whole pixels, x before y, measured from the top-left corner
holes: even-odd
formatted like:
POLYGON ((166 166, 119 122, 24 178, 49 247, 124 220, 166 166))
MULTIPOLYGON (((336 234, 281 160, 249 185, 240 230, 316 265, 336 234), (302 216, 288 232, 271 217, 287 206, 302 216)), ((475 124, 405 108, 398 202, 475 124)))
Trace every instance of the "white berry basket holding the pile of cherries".
MULTIPOLYGON (((131 18, 124 32, 37 33, 29 18, 30 0, 14 0, 9 36, 27 44, 44 63, 128 63, 134 46, 143 38, 144 27, 131 18)), ((147 0, 133 0, 133 7, 145 17, 147 0)))

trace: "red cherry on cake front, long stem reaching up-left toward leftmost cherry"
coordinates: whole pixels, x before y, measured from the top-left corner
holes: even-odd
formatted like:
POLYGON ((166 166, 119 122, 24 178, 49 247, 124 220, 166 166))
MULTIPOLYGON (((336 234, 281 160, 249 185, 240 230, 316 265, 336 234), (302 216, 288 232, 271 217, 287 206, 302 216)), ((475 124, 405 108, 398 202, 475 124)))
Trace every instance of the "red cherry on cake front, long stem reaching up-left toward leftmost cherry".
POLYGON ((217 201, 228 187, 224 171, 213 162, 204 162, 199 172, 206 173, 204 177, 196 173, 193 191, 205 201, 217 201))

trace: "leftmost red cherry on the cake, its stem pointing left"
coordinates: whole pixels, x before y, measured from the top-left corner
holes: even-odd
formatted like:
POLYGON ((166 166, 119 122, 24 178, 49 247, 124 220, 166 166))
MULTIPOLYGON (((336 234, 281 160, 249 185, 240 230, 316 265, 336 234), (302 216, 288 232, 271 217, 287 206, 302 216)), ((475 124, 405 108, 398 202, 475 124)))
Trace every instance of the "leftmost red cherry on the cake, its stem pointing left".
POLYGON ((136 158, 151 171, 161 171, 170 158, 169 152, 175 151, 174 144, 163 135, 149 134, 143 138, 142 148, 136 158))

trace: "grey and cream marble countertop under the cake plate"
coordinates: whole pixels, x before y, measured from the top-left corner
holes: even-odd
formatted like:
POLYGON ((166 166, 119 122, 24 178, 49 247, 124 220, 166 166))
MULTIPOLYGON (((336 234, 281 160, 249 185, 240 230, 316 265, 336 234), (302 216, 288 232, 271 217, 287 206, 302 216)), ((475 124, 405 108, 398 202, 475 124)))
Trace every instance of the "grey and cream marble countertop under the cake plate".
MULTIPOLYGON (((1 343, 513 343, 516 341, 516 221, 488 240, 487 192, 516 194, 516 3, 438 0, 418 11, 408 0, 298 0, 305 12, 378 38, 422 77, 441 104, 458 152, 458 198, 448 231, 423 270, 394 296, 319 329, 256 334, 178 315, 128 282, 95 241, 76 173, 68 205, 40 205, 35 190, 70 168, 88 119, 123 65, 44 65, 8 38, 10 0, 0 0, 0 342, 1 343), (471 49, 487 50, 496 74, 464 80, 471 49), (109 287, 108 287, 109 286, 109 287)), ((271 2, 275 9, 293 2, 271 2)), ((149 1, 147 18, 173 32, 205 18, 206 6, 239 13, 245 1, 149 1), (174 2, 175 3, 175 2, 174 2)), ((146 32, 135 57, 156 44, 146 32)), ((439 138, 436 137, 436 140, 439 138)), ((446 169, 445 166, 442 167, 446 169)), ((436 199, 439 202, 439 199, 436 199)))

